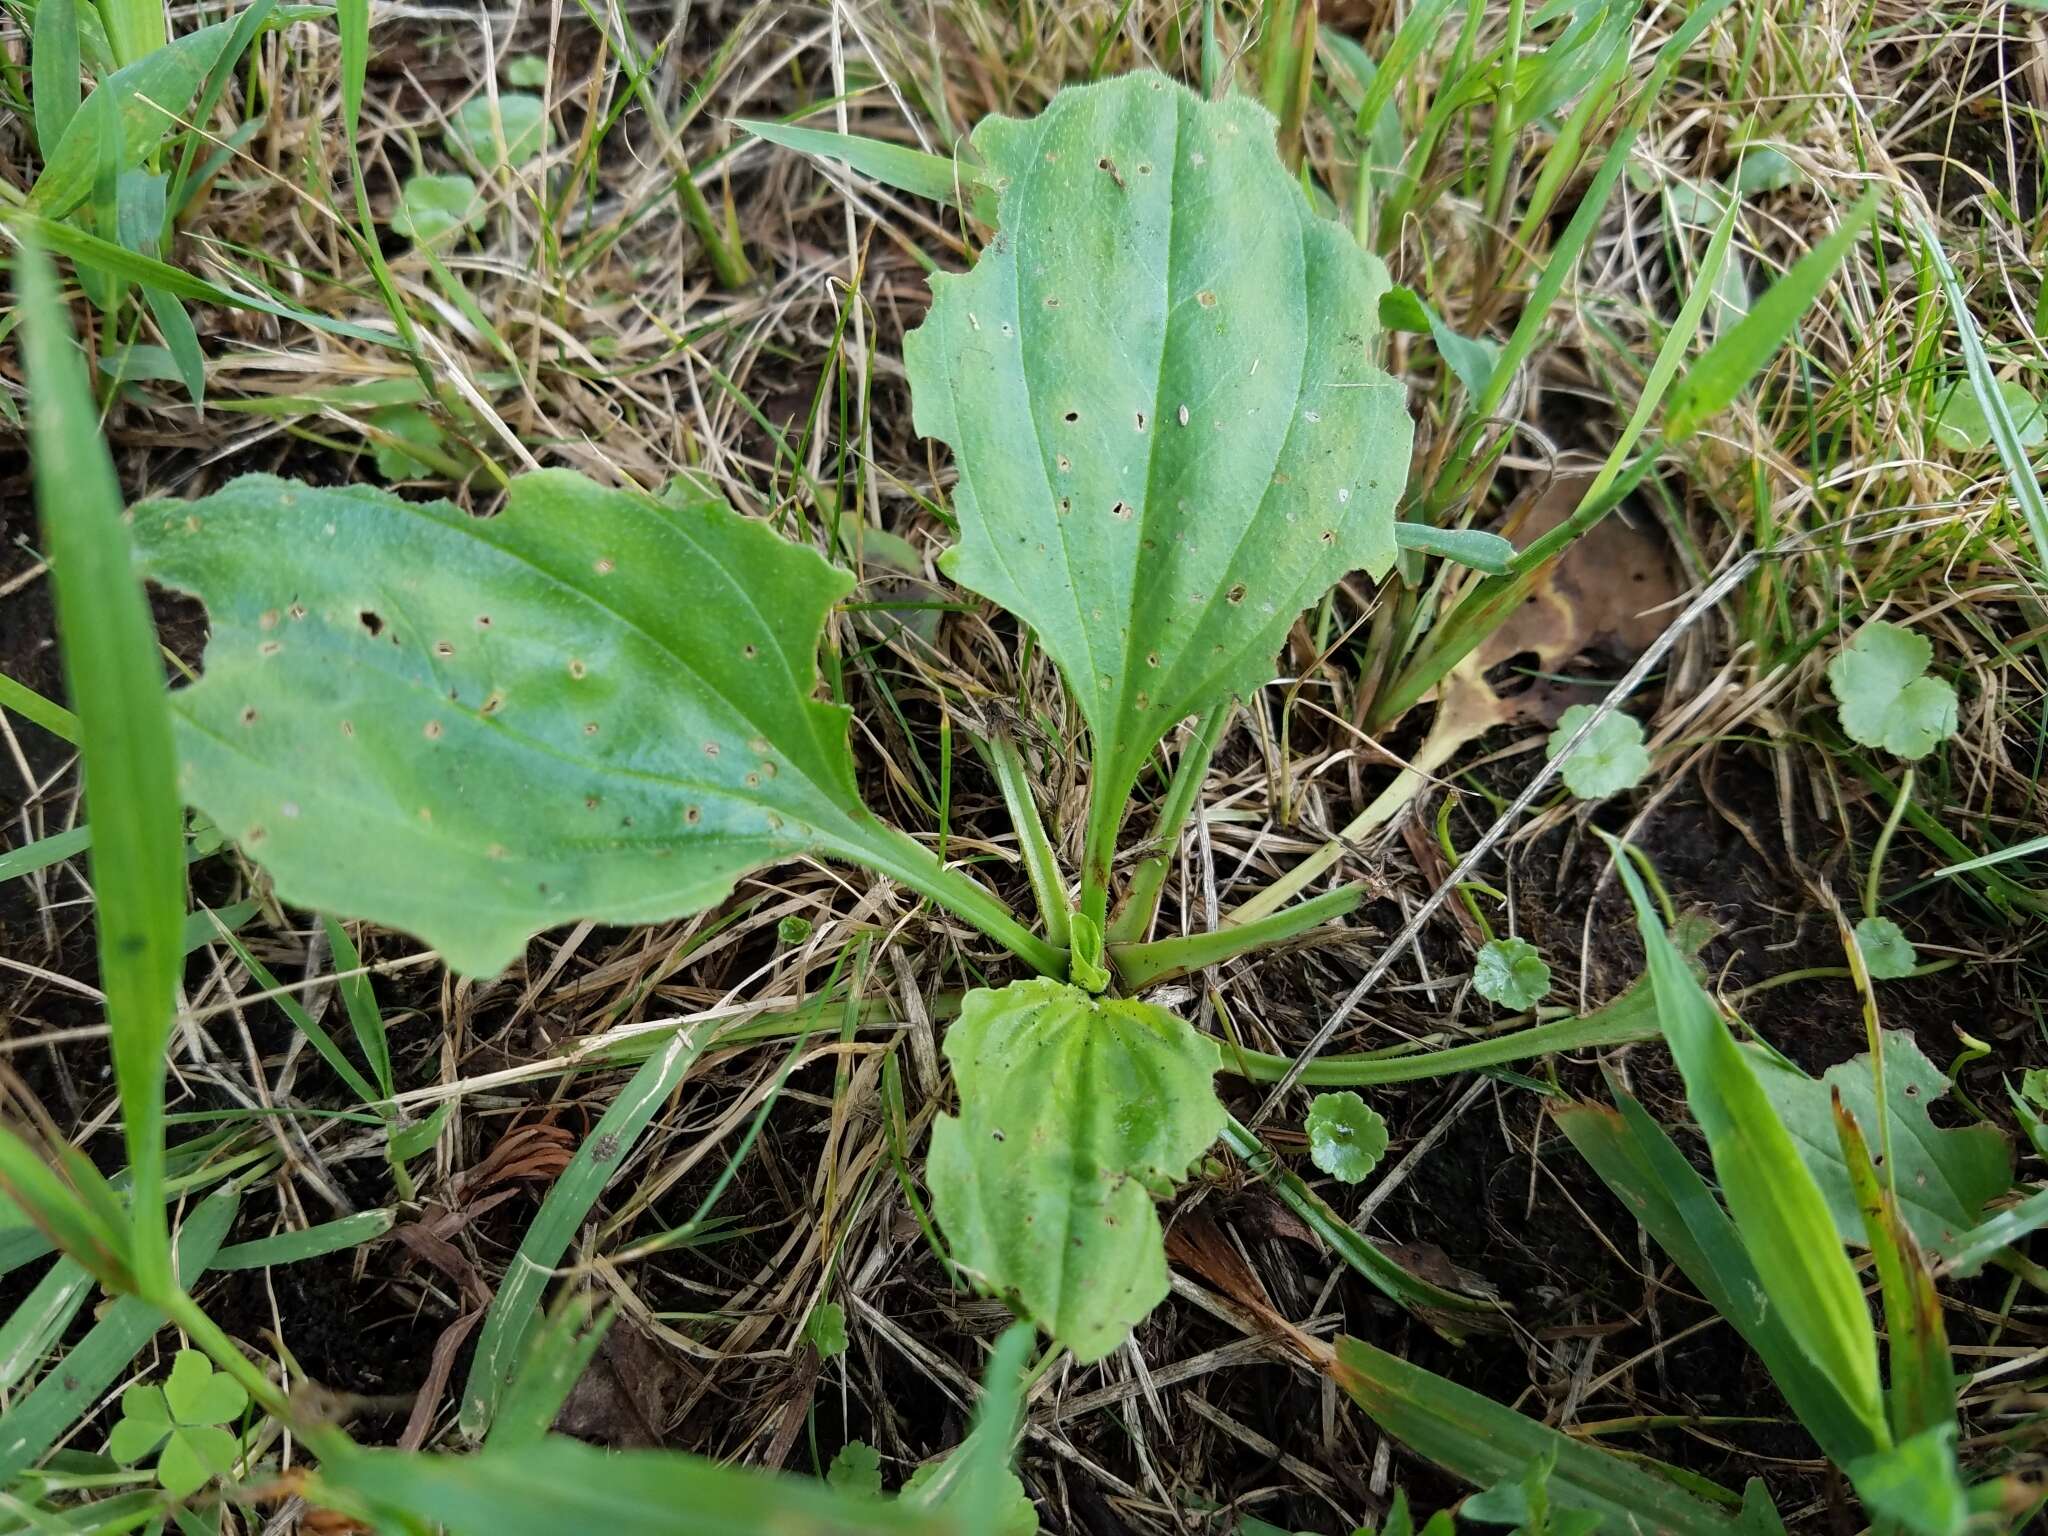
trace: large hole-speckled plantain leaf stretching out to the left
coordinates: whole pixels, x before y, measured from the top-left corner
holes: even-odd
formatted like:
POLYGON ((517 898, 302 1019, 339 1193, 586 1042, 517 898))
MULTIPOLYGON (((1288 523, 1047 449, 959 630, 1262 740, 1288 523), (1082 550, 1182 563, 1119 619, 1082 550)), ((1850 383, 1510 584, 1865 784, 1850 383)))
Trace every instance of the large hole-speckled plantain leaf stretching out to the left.
POLYGON ((135 541, 213 618, 174 694, 186 799, 287 901, 457 971, 909 842, 860 805, 846 711, 811 700, 850 578, 723 502, 543 471, 473 518, 250 475, 137 508, 135 541))

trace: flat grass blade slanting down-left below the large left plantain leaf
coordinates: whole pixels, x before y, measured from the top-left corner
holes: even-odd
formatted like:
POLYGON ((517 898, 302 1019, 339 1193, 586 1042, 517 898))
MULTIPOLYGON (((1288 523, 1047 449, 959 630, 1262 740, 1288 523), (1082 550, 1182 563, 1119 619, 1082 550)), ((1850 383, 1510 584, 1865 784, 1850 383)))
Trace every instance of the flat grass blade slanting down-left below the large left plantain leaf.
POLYGON ((535 1327, 541 1292, 569 1249, 569 1239, 702 1049, 705 1042, 696 1032, 684 1032, 676 1034, 659 1055, 649 1057, 547 1192, 483 1319, 469 1384, 463 1391, 463 1434, 475 1440, 489 1430, 506 1382, 524 1352, 526 1335, 535 1327))

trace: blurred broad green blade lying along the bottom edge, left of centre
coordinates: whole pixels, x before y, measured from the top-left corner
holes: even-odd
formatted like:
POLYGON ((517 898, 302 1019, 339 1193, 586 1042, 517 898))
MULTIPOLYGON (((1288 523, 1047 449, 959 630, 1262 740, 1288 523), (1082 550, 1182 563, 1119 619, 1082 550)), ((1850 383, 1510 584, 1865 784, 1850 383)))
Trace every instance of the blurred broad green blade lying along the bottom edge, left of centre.
POLYGON ((809 1477, 719 1466, 664 1450, 612 1452, 547 1436, 475 1456, 365 1450, 322 1464, 311 1497, 403 1509, 446 1536, 967 1536, 905 1499, 842 1493, 809 1477))

